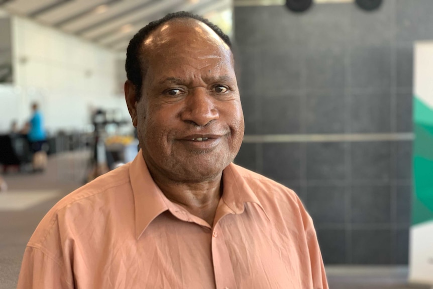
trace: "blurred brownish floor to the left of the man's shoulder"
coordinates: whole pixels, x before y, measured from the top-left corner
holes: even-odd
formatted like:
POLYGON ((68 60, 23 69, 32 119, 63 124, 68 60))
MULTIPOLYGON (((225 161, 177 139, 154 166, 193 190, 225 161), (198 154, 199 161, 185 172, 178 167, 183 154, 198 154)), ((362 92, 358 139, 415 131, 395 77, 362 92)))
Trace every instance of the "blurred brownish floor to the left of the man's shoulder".
POLYGON ((83 184, 88 151, 61 153, 48 159, 43 173, 3 175, 0 192, 0 289, 15 288, 24 249, 36 226, 63 196, 83 184))

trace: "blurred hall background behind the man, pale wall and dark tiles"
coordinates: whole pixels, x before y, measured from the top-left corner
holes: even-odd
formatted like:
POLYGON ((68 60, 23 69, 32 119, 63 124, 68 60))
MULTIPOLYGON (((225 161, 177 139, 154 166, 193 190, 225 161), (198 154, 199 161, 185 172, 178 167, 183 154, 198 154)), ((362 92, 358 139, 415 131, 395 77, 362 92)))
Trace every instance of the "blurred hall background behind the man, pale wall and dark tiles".
POLYGON ((60 198, 137 154, 126 47, 181 10, 231 37, 246 124, 235 163, 298 194, 330 287, 429 287, 408 283, 408 256, 414 45, 433 40, 433 1, 0 0, 0 288, 60 198))

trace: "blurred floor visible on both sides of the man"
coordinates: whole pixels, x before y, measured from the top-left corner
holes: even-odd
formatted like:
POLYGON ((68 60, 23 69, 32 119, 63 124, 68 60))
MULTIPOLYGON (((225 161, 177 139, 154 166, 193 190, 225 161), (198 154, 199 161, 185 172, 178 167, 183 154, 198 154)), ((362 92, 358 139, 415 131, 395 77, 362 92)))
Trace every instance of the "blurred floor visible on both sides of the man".
MULTIPOLYGON (((0 289, 15 288, 26 244, 47 211, 83 184, 88 151, 49 158, 40 174, 4 176, 9 191, 0 193, 0 289), (23 201, 24 200, 24 201, 23 201)), ((407 267, 328 266, 331 289, 430 289, 407 285, 407 267)))

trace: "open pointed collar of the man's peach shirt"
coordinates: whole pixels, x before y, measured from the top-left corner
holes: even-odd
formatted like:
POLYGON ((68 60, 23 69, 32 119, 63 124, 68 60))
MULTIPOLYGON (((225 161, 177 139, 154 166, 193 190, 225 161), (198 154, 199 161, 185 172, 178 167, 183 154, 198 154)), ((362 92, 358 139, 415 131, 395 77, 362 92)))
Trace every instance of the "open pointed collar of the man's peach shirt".
MULTIPOLYGON (((129 175, 135 203, 135 236, 139 239, 149 224, 161 213, 169 210, 175 217, 183 221, 191 221, 190 214, 180 206, 170 202, 158 185, 154 182, 140 150, 129 167, 129 175), (189 216, 188 216, 189 215, 189 216)), ((251 187, 240 174, 238 166, 231 163, 223 171, 222 202, 231 212, 242 214, 245 203, 255 203, 267 216, 262 204, 251 187)), ((221 201, 220 201, 221 202, 221 201)), ((220 209, 220 208, 219 208, 220 209)), ((218 210, 217 210, 218 211, 218 210)), ((225 210, 224 210, 225 211, 225 210)), ((217 212, 217 215, 219 212, 217 212)), ((192 217, 194 219, 194 217, 192 217)))

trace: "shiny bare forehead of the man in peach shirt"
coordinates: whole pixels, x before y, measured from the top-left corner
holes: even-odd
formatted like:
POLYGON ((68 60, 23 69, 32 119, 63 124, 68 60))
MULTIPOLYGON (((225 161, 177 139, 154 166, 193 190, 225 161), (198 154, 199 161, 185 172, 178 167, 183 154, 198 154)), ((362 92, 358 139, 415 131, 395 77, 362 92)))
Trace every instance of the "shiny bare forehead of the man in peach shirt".
POLYGON ((160 25, 145 39, 141 52, 149 66, 205 59, 219 59, 233 66, 229 46, 210 27, 195 19, 173 19, 160 25))

